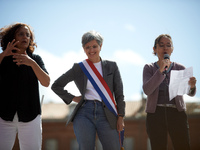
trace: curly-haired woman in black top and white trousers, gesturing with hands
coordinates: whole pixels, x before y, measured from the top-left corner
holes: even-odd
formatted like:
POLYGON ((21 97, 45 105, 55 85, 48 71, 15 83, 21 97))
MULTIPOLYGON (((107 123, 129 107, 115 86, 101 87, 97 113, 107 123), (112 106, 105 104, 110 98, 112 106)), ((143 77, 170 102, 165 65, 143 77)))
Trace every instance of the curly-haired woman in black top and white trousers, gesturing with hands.
POLYGON ((42 143, 39 82, 50 77, 35 47, 31 27, 15 23, 0 29, 0 149, 11 150, 16 133, 21 150, 40 150, 42 143))

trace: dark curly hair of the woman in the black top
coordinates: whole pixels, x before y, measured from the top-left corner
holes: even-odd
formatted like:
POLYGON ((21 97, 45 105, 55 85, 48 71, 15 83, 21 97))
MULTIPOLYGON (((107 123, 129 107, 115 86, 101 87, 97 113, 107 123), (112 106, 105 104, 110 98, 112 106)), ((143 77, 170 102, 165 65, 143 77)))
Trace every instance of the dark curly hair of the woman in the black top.
POLYGON ((12 42, 13 39, 15 39, 15 34, 17 31, 21 28, 26 26, 30 31, 30 43, 27 48, 27 51, 30 53, 33 53, 35 50, 35 47, 37 47, 37 44, 34 42, 34 33, 32 30, 32 27, 30 25, 27 25, 25 23, 14 23, 9 26, 5 26, 0 29, 0 41, 1 41, 1 47, 4 51, 8 45, 9 42, 12 42))

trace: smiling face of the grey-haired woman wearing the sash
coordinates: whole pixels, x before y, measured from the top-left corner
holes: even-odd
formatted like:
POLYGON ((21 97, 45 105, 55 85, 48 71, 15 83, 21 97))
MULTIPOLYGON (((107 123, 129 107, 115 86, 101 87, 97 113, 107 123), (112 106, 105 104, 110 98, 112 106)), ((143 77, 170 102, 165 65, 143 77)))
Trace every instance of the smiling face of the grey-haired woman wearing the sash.
POLYGON ((99 53, 101 51, 101 46, 99 46, 96 40, 92 40, 83 47, 88 59, 93 63, 100 61, 99 53))

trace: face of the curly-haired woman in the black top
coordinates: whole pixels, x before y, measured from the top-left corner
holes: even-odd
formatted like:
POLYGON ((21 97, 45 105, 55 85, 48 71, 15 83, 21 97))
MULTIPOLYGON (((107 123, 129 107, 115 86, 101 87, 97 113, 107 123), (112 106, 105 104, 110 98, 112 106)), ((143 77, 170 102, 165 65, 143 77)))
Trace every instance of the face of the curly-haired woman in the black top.
POLYGON ((30 37, 31 34, 28 27, 26 26, 20 27, 15 34, 15 40, 19 41, 16 47, 19 48, 20 50, 26 50, 30 43, 30 37))

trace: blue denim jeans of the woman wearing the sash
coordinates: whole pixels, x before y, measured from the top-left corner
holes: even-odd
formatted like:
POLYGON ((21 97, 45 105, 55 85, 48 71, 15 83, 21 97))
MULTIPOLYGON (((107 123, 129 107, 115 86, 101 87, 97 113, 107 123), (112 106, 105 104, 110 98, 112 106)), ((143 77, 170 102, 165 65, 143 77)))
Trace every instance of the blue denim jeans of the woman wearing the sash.
POLYGON ((106 119, 103 105, 98 101, 85 101, 73 121, 80 150, 94 150, 96 133, 104 150, 120 150, 119 134, 106 119))

